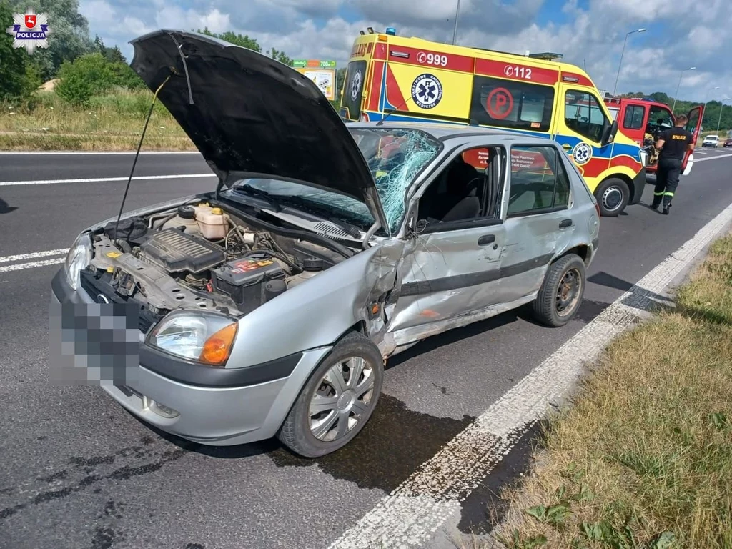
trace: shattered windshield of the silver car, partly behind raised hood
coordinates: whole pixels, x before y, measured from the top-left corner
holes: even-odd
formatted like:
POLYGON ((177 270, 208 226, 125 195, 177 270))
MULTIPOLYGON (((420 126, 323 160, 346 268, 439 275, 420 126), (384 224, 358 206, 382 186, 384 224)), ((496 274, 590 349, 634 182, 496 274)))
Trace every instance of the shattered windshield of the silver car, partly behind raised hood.
MULTIPOLYGON (((394 233, 404 217, 407 188, 441 151, 442 143, 422 130, 380 127, 348 130, 368 164, 389 229, 394 233)), ((374 223, 365 203, 340 193, 275 179, 242 179, 234 188, 244 184, 283 203, 294 198, 296 203, 292 205, 296 209, 352 223, 362 231, 374 223)))

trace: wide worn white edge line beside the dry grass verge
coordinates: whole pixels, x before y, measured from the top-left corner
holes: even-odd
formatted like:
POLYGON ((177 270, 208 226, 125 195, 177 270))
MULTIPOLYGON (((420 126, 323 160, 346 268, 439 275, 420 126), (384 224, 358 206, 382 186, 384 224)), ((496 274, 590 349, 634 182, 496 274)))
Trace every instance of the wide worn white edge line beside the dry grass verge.
POLYGON ((732 222, 732 205, 655 267, 554 354, 509 389, 433 458, 422 463, 329 549, 419 547, 429 542, 527 426, 560 403, 608 343, 646 315, 654 296, 732 222))

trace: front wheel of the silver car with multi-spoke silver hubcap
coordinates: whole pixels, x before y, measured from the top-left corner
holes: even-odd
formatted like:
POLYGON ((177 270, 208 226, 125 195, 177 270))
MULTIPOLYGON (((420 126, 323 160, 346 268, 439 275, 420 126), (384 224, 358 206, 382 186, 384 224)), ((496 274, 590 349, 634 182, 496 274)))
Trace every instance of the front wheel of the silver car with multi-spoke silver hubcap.
POLYGON ((384 382, 384 359, 368 337, 344 336, 302 388, 277 438, 304 458, 343 448, 373 414, 384 382))

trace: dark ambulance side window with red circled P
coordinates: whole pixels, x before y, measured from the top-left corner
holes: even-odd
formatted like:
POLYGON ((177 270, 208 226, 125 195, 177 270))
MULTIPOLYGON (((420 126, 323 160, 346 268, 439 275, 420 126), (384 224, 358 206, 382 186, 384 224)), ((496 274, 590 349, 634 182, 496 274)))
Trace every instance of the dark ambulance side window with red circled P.
POLYGON ((552 87, 485 76, 476 76, 473 82, 471 123, 513 130, 549 130, 554 105, 552 87))

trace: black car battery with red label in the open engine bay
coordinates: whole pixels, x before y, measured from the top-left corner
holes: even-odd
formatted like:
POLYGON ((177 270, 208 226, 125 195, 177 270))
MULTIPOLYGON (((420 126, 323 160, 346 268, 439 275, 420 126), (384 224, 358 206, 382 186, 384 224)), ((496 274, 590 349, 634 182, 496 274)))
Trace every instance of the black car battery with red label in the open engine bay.
POLYGON ((266 254, 252 254, 228 261, 213 269, 212 274, 215 291, 231 297, 242 313, 249 313, 264 304, 267 282, 285 278, 280 265, 266 254))

